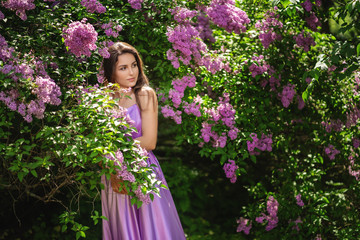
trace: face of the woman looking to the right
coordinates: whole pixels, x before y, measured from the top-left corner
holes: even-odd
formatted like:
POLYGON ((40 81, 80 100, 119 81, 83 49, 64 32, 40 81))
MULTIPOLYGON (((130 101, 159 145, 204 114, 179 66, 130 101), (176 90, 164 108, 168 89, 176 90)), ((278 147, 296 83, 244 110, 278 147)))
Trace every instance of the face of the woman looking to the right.
POLYGON ((115 63, 114 82, 121 88, 134 87, 139 76, 139 67, 136 59, 131 53, 124 53, 118 56, 115 63))

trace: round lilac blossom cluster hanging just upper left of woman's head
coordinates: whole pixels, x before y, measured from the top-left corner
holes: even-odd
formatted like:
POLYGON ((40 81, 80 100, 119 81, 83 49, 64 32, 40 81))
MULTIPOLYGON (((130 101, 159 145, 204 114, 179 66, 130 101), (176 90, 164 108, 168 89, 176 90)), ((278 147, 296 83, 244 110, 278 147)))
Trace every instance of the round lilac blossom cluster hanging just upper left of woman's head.
POLYGON ((86 21, 84 18, 81 22, 72 22, 63 29, 65 45, 77 57, 82 54, 90 57, 91 51, 97 48, 95 43, 98 34, 90 23, 86 24, 86 21))

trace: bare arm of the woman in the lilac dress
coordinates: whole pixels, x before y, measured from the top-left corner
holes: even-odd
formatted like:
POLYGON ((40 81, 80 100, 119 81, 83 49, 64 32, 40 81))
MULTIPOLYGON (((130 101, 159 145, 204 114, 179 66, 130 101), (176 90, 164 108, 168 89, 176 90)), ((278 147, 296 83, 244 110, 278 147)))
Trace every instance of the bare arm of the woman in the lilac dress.
POLYGON ((141 111, 142 136, 136 140, 146 150, 154 150, 157 141, 158 130, 158 102, 155 91, 152 88, 143 88, 138 94, 141 111))

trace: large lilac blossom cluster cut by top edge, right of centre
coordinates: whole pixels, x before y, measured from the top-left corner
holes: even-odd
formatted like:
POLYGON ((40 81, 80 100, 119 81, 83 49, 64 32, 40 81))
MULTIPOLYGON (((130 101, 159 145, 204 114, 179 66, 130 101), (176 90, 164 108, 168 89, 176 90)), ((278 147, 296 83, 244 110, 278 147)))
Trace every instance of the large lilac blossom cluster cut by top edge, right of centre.
POLYGON ((247 14, 235 6, 233 0, 212 0, 206 13, 219 27, 228 32, 240 34, 246 31, 246 24, 250 23, 247 14))

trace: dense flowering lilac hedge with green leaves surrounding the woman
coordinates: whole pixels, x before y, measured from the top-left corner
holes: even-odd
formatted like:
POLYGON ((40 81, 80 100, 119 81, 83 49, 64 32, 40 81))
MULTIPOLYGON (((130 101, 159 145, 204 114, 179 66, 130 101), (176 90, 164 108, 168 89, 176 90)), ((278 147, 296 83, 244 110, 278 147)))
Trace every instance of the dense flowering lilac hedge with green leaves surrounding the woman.
MULTIPOLYGON (((247 189, 239 237, 356 238, 359 10, 350 0, 1 1, 2 191, 61 202, 62 230, 77 238, 91 230, 73 201, 97 198, 99 176, 119 169, 114 159, 134 174, 134 203, 144 200, 139 188, 156 194, 143 152, 125 137, 124 112, 114 115, 102 94, 106 47, 126 41, 141 53, 178 143, 220 163, 222 184, 247 189)), ((196 222, 185 222, 192 232, 196 222)))

